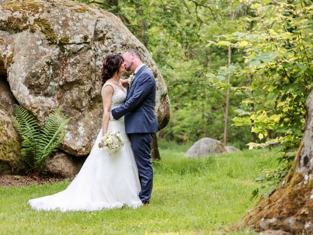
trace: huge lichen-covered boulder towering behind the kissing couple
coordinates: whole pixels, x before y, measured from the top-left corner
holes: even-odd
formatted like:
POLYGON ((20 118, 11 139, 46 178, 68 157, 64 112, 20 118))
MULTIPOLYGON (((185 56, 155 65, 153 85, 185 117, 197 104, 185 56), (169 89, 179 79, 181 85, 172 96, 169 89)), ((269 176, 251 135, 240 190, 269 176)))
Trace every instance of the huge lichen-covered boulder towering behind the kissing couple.
POLYGON ((0 73, 17 102, 41 123, 63 105, 71 120, 61 149, 71 155, 88 155, 101 128, 104 57, 130 48, 156 77, 163 128, 170 117, 165 82, 148 50, 116 16, 69 0, 0 0, 0 73))

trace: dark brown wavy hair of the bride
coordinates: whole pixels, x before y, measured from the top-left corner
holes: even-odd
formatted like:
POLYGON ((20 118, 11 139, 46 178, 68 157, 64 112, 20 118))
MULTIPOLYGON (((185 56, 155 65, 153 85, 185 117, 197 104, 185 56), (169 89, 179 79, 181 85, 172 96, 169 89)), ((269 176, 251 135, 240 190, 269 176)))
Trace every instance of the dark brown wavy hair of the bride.
POLYGON ((119 73, 119 67, 123 63, 123 57, 121 55, 107 55, 104 58, 101 69, 101 80, 102 86, 105 82, 113 76, 113 74, 117 71, 119 73))

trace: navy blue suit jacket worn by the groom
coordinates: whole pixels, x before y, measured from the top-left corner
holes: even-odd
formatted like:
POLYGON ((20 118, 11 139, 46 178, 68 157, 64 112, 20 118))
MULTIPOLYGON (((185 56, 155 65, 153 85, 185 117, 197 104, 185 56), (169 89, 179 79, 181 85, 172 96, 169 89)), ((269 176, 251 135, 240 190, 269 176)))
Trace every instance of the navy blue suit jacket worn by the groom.
POLYGON ((147 66, 139 69, 127 91, 125 103, 111 111, 113 118, 117 120, 125 116, 125 129, 128 134, 159 131, 155 111, 156 79, 147 66))

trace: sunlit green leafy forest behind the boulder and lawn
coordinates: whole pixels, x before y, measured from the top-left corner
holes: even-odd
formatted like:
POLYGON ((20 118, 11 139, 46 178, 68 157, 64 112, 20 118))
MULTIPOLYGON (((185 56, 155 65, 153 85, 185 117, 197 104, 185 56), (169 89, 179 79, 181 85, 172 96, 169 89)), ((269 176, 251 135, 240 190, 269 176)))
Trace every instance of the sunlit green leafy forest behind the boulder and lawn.
POLYGON ((239 148, 303 135, 312 89, 310 0, 79 0, 118 16, 147 47, 171 100, 161 141, 239 148))

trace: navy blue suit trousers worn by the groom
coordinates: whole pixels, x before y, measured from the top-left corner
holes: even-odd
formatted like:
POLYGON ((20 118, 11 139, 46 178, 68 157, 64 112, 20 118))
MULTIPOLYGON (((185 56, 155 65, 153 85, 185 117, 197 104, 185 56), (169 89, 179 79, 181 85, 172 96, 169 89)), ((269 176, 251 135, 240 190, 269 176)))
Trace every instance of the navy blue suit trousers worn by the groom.
POLYGON ((151 141, 153 135, 154 133, 128 134, 132 143, 141 185, 139 198, 144 204, 150 202, 153 185, 153 168, 151 159, 151 141))

